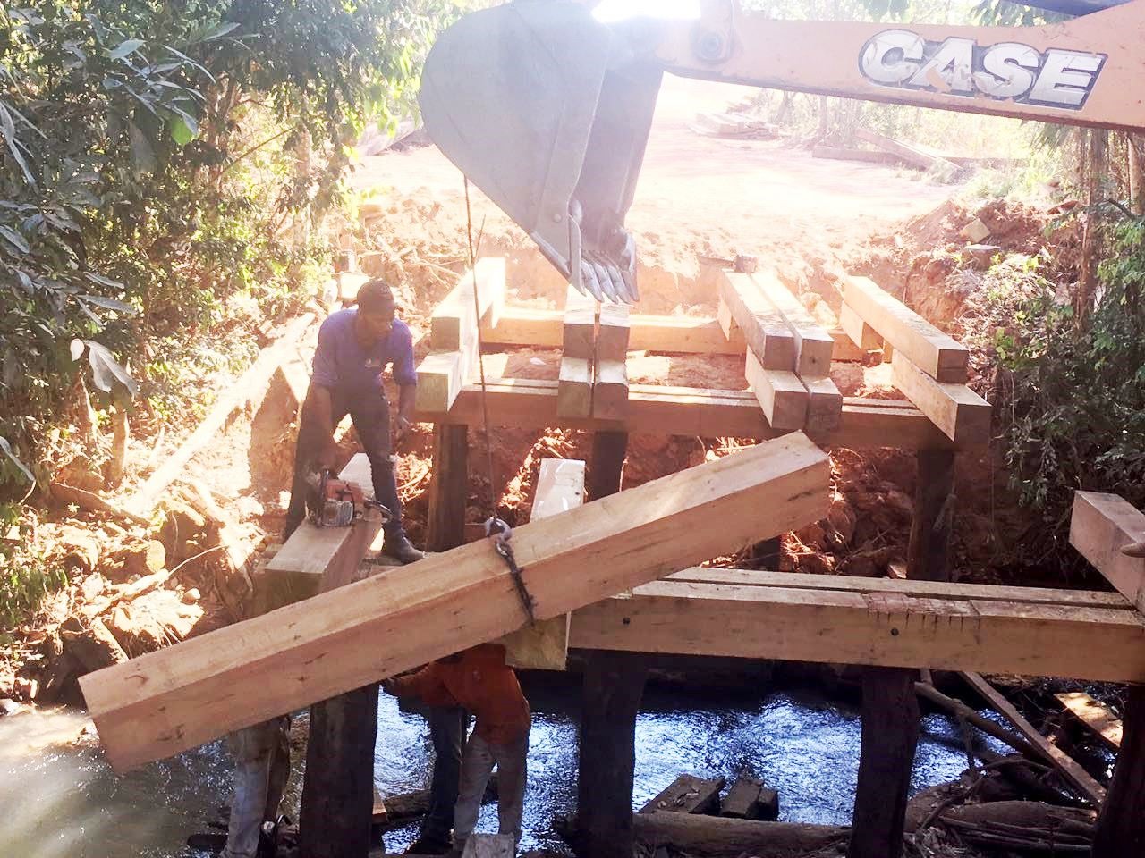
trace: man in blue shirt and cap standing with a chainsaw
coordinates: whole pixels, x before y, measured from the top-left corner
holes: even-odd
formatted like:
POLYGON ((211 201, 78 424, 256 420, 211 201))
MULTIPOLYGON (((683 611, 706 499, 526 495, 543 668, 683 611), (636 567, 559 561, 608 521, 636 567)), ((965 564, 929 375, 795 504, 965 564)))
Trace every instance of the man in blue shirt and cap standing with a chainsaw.
POLYGON ((406 324, 394 317, 395 310, 389 286, 384 280, 370 280, 358 291, 357 307, 332 313, 318 329, 314 374, 302 404, 294 452, 285 535, 290 537, 306 516, 307 475, 333 467, 338 455, 334 429, 349 414, 370 460, 374 498, 394 514, 385 525, 382 554, 413 563, 423 554, 402 527, 402 505, 389 458, 389 402, 382 386, 382 372, 392 364, 398 389, 394 439, 400 442, 413 422, 417 373, 413 337, 406 324))

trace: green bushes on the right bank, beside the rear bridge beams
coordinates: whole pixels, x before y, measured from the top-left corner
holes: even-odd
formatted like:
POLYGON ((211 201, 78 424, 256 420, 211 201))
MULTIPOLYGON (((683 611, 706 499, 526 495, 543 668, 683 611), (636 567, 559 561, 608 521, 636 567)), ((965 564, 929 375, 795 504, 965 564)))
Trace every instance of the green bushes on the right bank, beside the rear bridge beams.
POLYGON ((1081 324, 1043 264, 997 262, 968 339, 997 370, 992 399, 1013 486, 1061 537, 1074 490, 1145 505, 1145 221, 1114 228, 1101 294, 1081 324))

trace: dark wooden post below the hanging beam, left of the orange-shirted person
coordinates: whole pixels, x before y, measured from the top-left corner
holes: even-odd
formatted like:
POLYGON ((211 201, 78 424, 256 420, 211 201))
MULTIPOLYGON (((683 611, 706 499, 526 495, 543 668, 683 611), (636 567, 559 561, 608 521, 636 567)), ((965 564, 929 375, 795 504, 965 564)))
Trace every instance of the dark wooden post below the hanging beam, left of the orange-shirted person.
POLYGON ((301 858, 366 858, 377 738, 378 683, 310 707, 299 815, 301 858))

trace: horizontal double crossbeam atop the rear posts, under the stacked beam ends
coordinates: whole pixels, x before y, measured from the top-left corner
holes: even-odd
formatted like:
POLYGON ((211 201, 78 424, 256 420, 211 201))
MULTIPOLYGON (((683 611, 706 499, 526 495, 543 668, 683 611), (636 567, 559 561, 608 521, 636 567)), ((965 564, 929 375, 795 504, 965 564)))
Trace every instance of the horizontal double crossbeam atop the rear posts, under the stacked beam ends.
MULTIPOLYGON (((544 429, 562 426, 589 431, 689 435, 704 438, 776 438, 750 390, 704 390, 658 384, 630 384, 629 413, 623 420, 566 419, 556 414, 555 381, 495 379, 485 402, 496 426, 544 429)), ((424 412, 425 422, 482 422, 481 387, 467 386, 450 412, 424 412)), ((919 450, 957 447, 921 411, 901 399, 843 398, 838 429, 813 435, 823 446, 900 447, 919 450)))

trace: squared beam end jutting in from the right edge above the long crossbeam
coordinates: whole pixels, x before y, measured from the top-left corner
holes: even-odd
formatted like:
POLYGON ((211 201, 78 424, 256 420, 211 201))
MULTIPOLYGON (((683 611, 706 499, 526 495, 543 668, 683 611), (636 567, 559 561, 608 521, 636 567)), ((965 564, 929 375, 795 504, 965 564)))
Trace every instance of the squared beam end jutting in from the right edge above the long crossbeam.
POLYGON ((1074 492, 1069 545, 1145 612, 1145 558, 1122 554, 1124 546, 1145 541, 1145 514, 1116 494, 1074 492))

